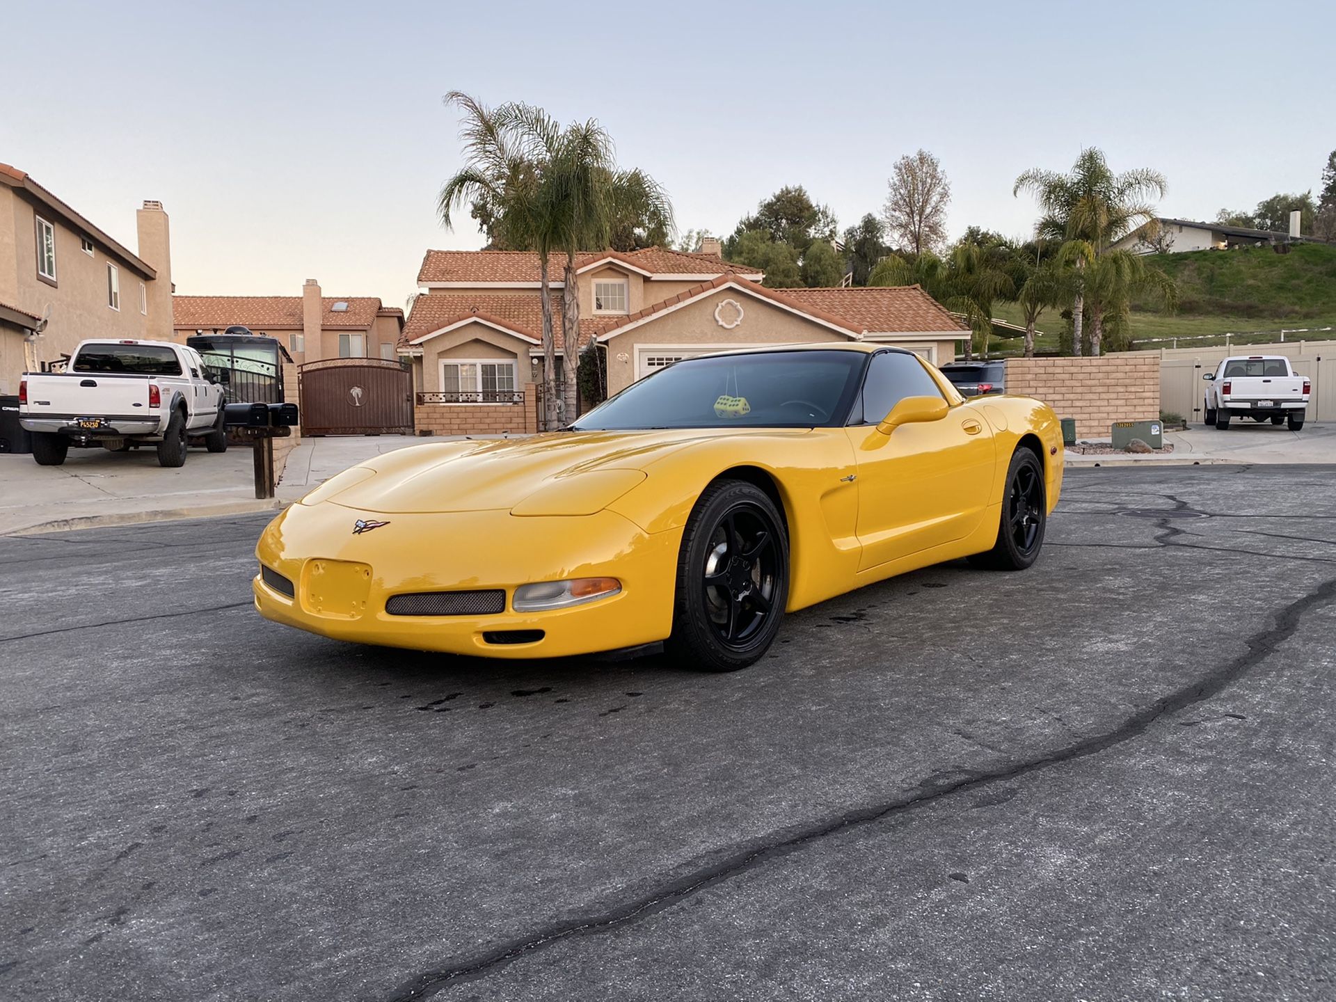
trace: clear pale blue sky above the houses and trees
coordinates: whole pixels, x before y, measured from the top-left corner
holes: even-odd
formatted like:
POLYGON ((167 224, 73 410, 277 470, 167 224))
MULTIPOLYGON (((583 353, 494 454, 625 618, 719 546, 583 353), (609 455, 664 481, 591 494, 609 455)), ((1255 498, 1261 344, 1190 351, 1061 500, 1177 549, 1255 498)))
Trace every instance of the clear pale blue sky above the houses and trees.
MULTIPOLYGON (((9 3, 0 162, 134 247, 171 215, 179 293, 402 305, 458 166, 453 88, 596 118, 680 228, 727 234, 783 184, 840 224, 923 147, 950 231, 1026 235, 1027 167, 1082 146, 1209 219, 1317 188, 1336 147, 1336 3, 9 3)), ((465 223, 472 220, 465 219, 465 223)))

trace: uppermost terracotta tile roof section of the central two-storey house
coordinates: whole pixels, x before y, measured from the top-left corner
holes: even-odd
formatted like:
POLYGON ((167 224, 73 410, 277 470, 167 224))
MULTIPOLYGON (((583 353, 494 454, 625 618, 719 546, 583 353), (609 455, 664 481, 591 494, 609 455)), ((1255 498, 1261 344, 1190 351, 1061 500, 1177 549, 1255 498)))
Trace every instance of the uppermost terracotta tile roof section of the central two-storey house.
MULTIPOLYGON (((604 251, 601 254, 580 254, 576 267, 584 267, 603 258, 623 261, 633 267, 653 274, 717 275, 733 271, 739 275, 760 275, 758 269, 745 265, 731 265, 711 254, 683 254, 663 247, 621 254, 604 251)), ((549 259, 549 279, 561 281, 565 255, 554 254, 549 259)), ((418 282, 537 282, 538 255, 533 251, 437 251, 429 250, 418 270, 418 282)))

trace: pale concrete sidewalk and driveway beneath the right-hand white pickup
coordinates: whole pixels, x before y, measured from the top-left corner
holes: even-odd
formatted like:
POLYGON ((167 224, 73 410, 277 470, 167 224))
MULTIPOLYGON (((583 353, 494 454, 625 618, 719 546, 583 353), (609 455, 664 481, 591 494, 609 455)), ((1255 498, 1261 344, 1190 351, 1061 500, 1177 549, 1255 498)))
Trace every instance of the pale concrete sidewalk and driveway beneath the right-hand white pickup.
MULTIPOLYGON (((1108 438, 1082 441, 1108 442, 1108 438)), ((1233 422, 1226 430, 1193 425, 1186 432, 1165 432, 1172 453, 1066 453, 1067 466, 1209 466, 1216 464, 1336 464, 1336 425, 1287 426, 1233 422)))

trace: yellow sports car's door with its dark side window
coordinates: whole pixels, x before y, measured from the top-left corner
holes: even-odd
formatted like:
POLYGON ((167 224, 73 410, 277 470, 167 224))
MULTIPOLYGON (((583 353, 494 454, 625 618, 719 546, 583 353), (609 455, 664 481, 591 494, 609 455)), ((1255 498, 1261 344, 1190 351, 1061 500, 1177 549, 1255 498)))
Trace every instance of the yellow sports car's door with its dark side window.
POLYGON ((993 429, 978 405, 958 403, 938 421, 878 430, 904 397, 943 397, 908 351, 872 355, 860 407, 846 432, 858 464, 859 570, 974 532, 993 486, 993 429))

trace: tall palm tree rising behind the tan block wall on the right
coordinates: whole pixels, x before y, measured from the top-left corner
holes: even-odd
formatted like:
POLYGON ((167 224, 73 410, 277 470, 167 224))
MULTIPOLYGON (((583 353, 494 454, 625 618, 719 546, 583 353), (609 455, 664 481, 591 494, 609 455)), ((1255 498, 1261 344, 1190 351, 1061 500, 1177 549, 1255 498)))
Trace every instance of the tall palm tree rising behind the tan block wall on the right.
MULTIPOLYGON (((1082 319, 1085 315, 1083 271, 1092 257, 1106 253, 1128 234, 1141 230, 1153 235, 1157 227, 1154 199, 1165 195, 1164 175, 1149 168, 1114 174, 1104 152, 1090 147, 1081 151, 1070 174, 1031 168, 1015 179, 1013 195, 1029 191, 1039 203, 1035 235, 1041 240, 1089 246, 1090 254, 1073 251, 1071 326, 1073 350, 1081 354, 1082 319)), ((1100 354, 1098 333, 1092 338, 1090 353, 1100 354)))

